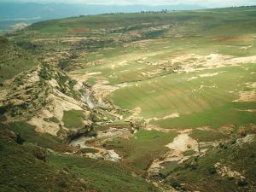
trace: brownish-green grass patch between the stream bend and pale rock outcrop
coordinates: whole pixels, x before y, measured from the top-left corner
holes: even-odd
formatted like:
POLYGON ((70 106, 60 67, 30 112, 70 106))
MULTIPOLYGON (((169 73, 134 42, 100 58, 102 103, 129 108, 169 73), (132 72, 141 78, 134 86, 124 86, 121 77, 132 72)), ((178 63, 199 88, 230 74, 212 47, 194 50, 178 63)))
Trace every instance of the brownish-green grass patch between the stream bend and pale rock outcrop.
POLYGON ((168 150, 165 146, 172 143, 177 133, 160 131, 138 131, 130 140, 115 139, 108 143, 108 148, 114 148, 124 157, 123 162, 139 171, 148 167, 152 160, 168 150), (157 144, 156 144, 157 143, 157 144))

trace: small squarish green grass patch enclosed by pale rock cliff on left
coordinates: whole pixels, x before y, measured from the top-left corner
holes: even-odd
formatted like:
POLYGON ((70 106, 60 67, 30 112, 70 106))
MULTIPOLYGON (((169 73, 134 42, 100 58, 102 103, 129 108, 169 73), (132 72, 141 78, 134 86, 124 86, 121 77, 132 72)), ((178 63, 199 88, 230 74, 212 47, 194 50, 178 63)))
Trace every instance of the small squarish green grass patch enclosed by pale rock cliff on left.
POLYGON ((64 111, 63 122, 67 128, 81 128, 83 126, 84 113, 79 110, 64 111))

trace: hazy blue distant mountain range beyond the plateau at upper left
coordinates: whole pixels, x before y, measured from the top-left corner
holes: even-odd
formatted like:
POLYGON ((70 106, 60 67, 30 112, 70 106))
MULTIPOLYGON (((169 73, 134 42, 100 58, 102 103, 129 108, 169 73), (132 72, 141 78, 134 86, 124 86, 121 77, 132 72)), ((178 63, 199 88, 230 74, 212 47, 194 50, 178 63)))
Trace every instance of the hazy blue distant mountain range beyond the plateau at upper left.
POLYGON ((10 26, 32 24, 40 20, 59 19, 79 15, 99 15, 106 13, 136 13, 141 11, 193 10, 202 9, 198 5, 92 5, 67 3, 0 3, 0 31, 8 31, 10 26))

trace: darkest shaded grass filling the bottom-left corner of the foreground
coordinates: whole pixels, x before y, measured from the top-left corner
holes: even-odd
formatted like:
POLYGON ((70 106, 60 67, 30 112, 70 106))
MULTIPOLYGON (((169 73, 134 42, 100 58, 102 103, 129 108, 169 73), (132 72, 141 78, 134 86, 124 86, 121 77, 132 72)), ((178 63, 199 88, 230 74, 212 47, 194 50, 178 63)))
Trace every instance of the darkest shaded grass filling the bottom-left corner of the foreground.
MULTIPOLYGON (((1 191, 84 191, 93 189, 89 182, 81 182, 78 176, 55 168, 47 162, 38 160, 34 153, 38 146, 31 143, 19 145, 15 143, 6 130, 9 127, 0 127, 0 158, 1 191)), ((46 141, 47 142, 47 141, 46 141)), ((52 143, 51 143, 52 144, 52 143)))

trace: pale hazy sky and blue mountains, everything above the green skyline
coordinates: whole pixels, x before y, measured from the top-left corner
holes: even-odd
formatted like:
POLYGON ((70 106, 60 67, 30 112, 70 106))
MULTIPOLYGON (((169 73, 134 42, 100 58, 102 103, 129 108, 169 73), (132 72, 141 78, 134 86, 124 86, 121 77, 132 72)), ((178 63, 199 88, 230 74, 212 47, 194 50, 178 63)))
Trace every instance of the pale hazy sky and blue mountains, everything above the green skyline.
POLYGON ((40 20, 60 19, 79 15, 139 13, 141 11, 196 10, 255 5, 256 0, 225 2, 220 0, 0 0, 0 31, 9 31, 16 24, 30 25, 40 20))

